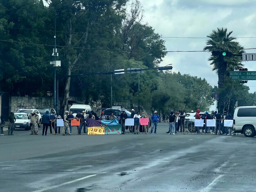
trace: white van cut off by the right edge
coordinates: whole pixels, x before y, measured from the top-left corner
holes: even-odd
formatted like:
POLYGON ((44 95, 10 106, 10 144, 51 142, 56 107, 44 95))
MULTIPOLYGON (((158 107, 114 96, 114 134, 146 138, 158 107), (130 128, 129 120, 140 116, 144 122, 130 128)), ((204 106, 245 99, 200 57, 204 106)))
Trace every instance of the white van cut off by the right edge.
POLYGON ((234 112, 235 133, 243 133, 247 137, 255 136, 256 106, 236 107, 234 112))

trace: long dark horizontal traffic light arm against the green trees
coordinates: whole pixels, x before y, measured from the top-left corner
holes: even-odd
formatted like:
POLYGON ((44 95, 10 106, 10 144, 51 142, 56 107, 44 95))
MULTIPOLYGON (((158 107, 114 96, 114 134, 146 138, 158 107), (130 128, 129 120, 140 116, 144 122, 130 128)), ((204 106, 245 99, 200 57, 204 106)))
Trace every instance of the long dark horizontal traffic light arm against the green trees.
MULTIPOLYGON (((173 69, 172 66, 165 66, 165 67, 154 67, 154 68, 141 68, 141 69, 130 69, 130 70, 123 70, 123 71, 118 71, 118 72, 130 72, 130 71, 146 71, 146 70, 153 70, 153 69, 158 69, 159 71, 163 70, 171 70, 173 69)), ((86 73, 86 74, 74 74, 74 75, 69 75, 67 77, 72 77, 72 76, 87 76, 87 75, 97 75, 97 74, 115 74, 117 71, 102 71, 102 72, 94 72, 94 73, 86 73)))

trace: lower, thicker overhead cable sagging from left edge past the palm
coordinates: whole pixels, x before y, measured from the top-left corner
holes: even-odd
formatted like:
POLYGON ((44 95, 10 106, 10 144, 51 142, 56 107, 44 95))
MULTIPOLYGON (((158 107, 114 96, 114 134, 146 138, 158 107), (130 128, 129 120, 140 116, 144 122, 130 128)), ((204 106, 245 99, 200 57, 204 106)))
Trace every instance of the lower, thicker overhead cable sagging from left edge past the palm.
MULTIPOLYGON (((22 43, 27 45, 40 45, 40 46, 47 46, 47 47, 54 47, 54 45, 47 45, 47 44, 40 44, 40 43, 32 43, 32 42, 20 42, 20 41, 11 41, 11 40, 0 40, 2 42, 13 42, 13 43, 22 43)), ((188 50, 188 51, 153 51, 153 50, 123 50, 123 49, 104 49, 104 48, 85 48, 85 47, 68 47, 68 46, 56 46, 61 48, 73 48, 73 49, 88 49, 88 50, 103 50, 103 51, 122 51, 122 52, 165 52, 165 53, 182 53, 182 52, 210 52, 210 51, 204 51, 204 50, 188 50)), ((240 50, 250 50, 250 49, 256 49, 256 48, 245 48, 240 50)), ((237 50, 222 50, 222 51, 237 51, 237 50)))

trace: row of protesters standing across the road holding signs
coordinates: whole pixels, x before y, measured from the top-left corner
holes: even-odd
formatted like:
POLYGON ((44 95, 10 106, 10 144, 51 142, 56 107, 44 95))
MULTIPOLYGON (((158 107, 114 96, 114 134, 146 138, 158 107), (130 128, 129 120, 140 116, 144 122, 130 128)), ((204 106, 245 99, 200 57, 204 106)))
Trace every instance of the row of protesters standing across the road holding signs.
MULTIPOLYGON (((193 113, 193 111, 191 111, 193 113)), ((169 129, 167 134, 177 134, 177 132, 185 132, 185 117, 186 117, 186 112, 184 109, 181 111, 173 112, 171 111, 170 114, 168 115, 168 122, 169 122, 169 129)), ((29 115, 30 118, 30 128, 31 128, 31 135, 36 134, 38 135, 38 115, 35 112, 32 112, 29 115)), ((72 112, 65 111, 65 114, 63 116, 63 130, 62 130, 62 135, 72 135, 72 126, 71 126, 71 121, 72 119, 79 120, 81 119, 81 123, 77 127, 77 134, 81 135, 82 128, 83 128, 83 134, 86 133, 86 118, 92 118, 95 120, 100 120, 100 121, 106 121, 106 120, 113 120, 115 118, 119 118, 119 123, 121 124, 121 134, 125 134, 126 129, 128 129, 128 126, 125 125, 126 119, 128 118, 128 115, 126 114, 125 111, 123 111, 120 114, 120 117, 115 116, 113 113, 107 117, 104 112, 101 112, 100 116, 97 116, 97 114, 93 111, 89 112, 89 115, 85 115, 85 111, 78 111, 76 116, 72 114, 72 112)), ((134 126, 131 126, 131 132, 134 134, 139 134, 140 131, 140 121, 139 118, 148 118, 144 112, 136 112, 135 110, 131 110, 131 115, 130 118, 134 118, 134 126)), ((160 117, 157 114, 157 111, 154 111, 154 113, 149 117, 150 122, 148 125, 143 125, 142 130, 144 132, 150 131, 150 134, 157 134, 157 125, 160 122, 160 117), (154 130, 155 128, 155 130, 154 130), (154 131, 154 132, 153 132, 154 131)), ((57 126, 57 119, 62 119, 61 115, 56 113, 56 115, 49 113, 49 111, 46 111, 45 114, 42 116, 42 124, 43 124, 43 130, 42 130, 42 135, 47 135, 48 127, 49 127, 49 132, 50 134, 61 134, 61 127, 57 126)), ((231 120, 232 115, 227 114, 227 112, 224 112, 223 114, 220 114, 216 111, 211 111, 211 114, 208 112, 200 113, 200 109, 196 110, 195 113, 195 119, 203 119, 204 120, 204 126, 203 127, 195 127, 194 132, 199 134, 199 133, 205 133, 205 134, 226 134, 226 135, 231 135, 232 132, 232 127, 224 127, 224 121, 226 120, 231 120), (207 126, 207 119, 215 119, 216 120, 216 126, 215 127, 208 127, 207 126), (200 132, 202 130, 202 132, 200 132)), ((8 135, 13 135, 13 130, 14 130, 14 123, 16 121, 16 118, 14 116, 14 113, 11 112, 8 122, 8 135)), ((187 126, 191 122, 187 123, 187 126)), ((4 126, 4 119, 1 116, 0 118, 0 135, 4 135, 3 133, 3 126, 4 126)))

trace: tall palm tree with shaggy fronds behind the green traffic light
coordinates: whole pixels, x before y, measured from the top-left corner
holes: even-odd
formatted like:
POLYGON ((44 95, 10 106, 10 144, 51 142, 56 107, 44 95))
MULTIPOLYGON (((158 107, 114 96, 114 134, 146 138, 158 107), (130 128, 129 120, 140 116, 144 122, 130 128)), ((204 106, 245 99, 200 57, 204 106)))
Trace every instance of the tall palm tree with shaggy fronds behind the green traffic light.
MULTIPOLYGON (((244 53, 244 47, 241 47, 238 42, 234 41, 236 38, 231 37, 231 33, 233 31, 227 33, 227 28, 223 29, 223 27, 221 29, 217 28, 217 31, 213 30, 207 36, 210 39, 207 40, 207 46, 204 47, 204 51, 229 51, 232 54, 244 53)), ((229 75, 228 72, 230 70, 243 67, 241 56, 211 56, 208 60, 211 61, 210 65, 213 65, 212 70, 218 74, 218 88, 223 87, 224 79, 229 75)))

